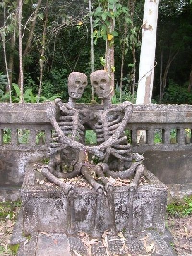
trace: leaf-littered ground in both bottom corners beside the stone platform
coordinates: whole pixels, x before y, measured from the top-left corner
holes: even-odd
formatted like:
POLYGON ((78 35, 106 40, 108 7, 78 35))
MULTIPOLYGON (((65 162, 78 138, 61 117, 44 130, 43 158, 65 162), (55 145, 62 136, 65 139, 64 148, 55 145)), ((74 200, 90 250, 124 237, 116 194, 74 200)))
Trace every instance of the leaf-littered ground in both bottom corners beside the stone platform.
MULTIPOLYGON (((0 256, 15 255, 8 246, 16 221, 18 206, 10 209, 10 214, 5 212, 0 216, 0 256)), ((0 212, 3 213, 2 208, 0 212)), ((173 235, 174 243, 171 244, 178 256, 192 256, 192 215, 185 218, 167 217, 167 227, 173 235)), ((148 254, 150 256, 150 254, 148 254)))

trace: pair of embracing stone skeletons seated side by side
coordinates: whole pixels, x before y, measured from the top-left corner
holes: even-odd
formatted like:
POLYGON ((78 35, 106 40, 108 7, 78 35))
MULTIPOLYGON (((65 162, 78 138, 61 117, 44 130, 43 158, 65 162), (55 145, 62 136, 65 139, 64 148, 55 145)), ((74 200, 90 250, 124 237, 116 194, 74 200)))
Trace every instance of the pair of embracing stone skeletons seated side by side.
MULTIPOLYGON (((132 233, 133 199, 139 179, 144 172, 144 166, 140 164, 143 157, 139 154, 129 153, 130 148, 127 145, 127 139, 124 134, 126 124, 132 116, 132 104, 123 102, 112 107, 110 100, 110 78, 107 72, 100 70, 92 73, 91 83, 94 86, 97 96, 103 100, 103 110, 95 113, 96 124, 94 130, 97 134, 98 145, 91 147, 82 144, 84 141, 84 122, 89 122, 90 111, 76 109, 75 101, 82 96, 84 87, 87 85, 87 77, 82 73, 73 72, 68 78, 69 102, 63 104, 61 100, 56 100, 56 105, 61 110, 58 122, 56 121, 56 111, 54 108, 48 109, 47 114, 57 135, 54 139, 56 143, 51 144, 50 154, 57 156, 57 152, 62 152, 66 157, 69 154, 69 150, 75 151, 77 157, 72 161, 74 170, 69 173, 62 173, 60 170, 55 170, 54 161, 57 161, 52 157, 49 165, 42 170, 42 173, 48 180, 59 185, 66 194, 68 193, 68 204, 70 206, 68 233, 72 235, 76 232, 74 226, 74 193, 72 192, 74 188, 61 182, 58 178, 73 178, 82 173, 85 179, 96 190, 97 198, 99 198, 103 195, 104 188, 92 178, 89 169, 94 169, 107 192, 112 220, 110 232, 111 235, 115 235, 117 231, 115 227, 113 186, 108 182, 105 175, 113 178, 129 178, 130 176, 134 176, 134 180, 130 184, 129 202, 129 233, 132 233), (67 136, 69 134, 71 134, 71 137, 67 136), (87 162, 86 151, 98 156, 102 162, 96 166, 91 165, 87 162), (116 171, 112 171, 110 168, 109 158, 111 156, 114 158, 113 161, 120 162, 118 164, 120 168, 116 171), (132 160, 135 160, 136 163, 132 163, 130 168, 126 169, 126 162, 130 163, 132 160)), ((98 222, 100 210, 101 200, 97 200, 93 236, 99 236, 98 222)))

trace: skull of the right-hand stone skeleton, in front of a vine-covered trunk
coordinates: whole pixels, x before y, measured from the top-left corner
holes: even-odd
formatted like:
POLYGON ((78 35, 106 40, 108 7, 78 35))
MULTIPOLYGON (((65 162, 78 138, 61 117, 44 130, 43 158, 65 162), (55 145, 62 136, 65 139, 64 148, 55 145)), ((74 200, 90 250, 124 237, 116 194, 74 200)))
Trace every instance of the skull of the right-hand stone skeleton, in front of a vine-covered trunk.
POLYGON ((98 98, 108 98, 111 84, 108 73, 104 70, 97 70, 91 73, 90 79, 98 98))

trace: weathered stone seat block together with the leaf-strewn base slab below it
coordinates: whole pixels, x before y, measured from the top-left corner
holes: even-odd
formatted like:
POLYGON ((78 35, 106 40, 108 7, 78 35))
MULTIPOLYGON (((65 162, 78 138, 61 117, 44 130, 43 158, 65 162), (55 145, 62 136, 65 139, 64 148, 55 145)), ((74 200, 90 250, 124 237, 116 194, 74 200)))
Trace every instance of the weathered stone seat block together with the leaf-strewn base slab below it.
POLYGON ((110 236, 110 215, 105 193, 98 198, 90 187, 74 186, 76 234, 69 235, 68 196, 60 187, 46 186, 35 164, 26 168, 21 189, 23 205, 14 227, 11 244, 20 244, 18 256, 172 256, 164 233, 167 187, 150 171, 144 171, 134 196, 133 232, 129 233, 129 185, 114 187, 117 235, 110 236), (39 181, 43 181, 39 184, 39 181), (96 202, 101 200, 98 238, 93 238, 96 202))

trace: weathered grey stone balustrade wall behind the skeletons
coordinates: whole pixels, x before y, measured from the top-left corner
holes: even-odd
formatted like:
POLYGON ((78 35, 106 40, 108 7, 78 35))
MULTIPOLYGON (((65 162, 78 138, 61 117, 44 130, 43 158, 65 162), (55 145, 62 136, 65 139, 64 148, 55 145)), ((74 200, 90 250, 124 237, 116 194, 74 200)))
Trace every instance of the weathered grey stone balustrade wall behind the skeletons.
MULTIPOLYGON (((0 104, 0 186, 12 189, 24 179, 25 166, 45 157, 51 140, 52 126, 46 116, 49 104, 0 104), (4 129, 11 140, 5 142, 4 129), (27 131, 28 139, 21 141, 20 131, 27 131), (42 139, 38 134, 43 132, 42 139), (38 138, 38 139, 37 139, 38 138)), ((82 107, 84 105, 79 105, 82 107)), ((99 105, 89 105, 93 111, 99 105)), ((166 184, 188 187, 192 183, 192 106, 190 105, 138 105, 127 129, 130 131, 131 148, 144 153, 145 166, 166 184), (186 130, 187 129, 187 130, 186 130), (146 139, 137 139, 138 131, 146 131, 146 139), (160 143, 154 136, 160 134, 160 143), (171 134, 175 133, 175 138, 171 134)), ((141 132, 142 133, 142 132, 141 132)), ((192 187, 192 186, 191 186, 192 187)), ((6 190, 7 191, 7 190, 6 190)), ((192 192, 192 189, 191 189, 192 192)), ((11 192, 10 192, 11 193, 11 192)), ((5 196, 6 197, 6 196, 5 196)), ((4 198, 4 197, 2 197, 4 198)))

